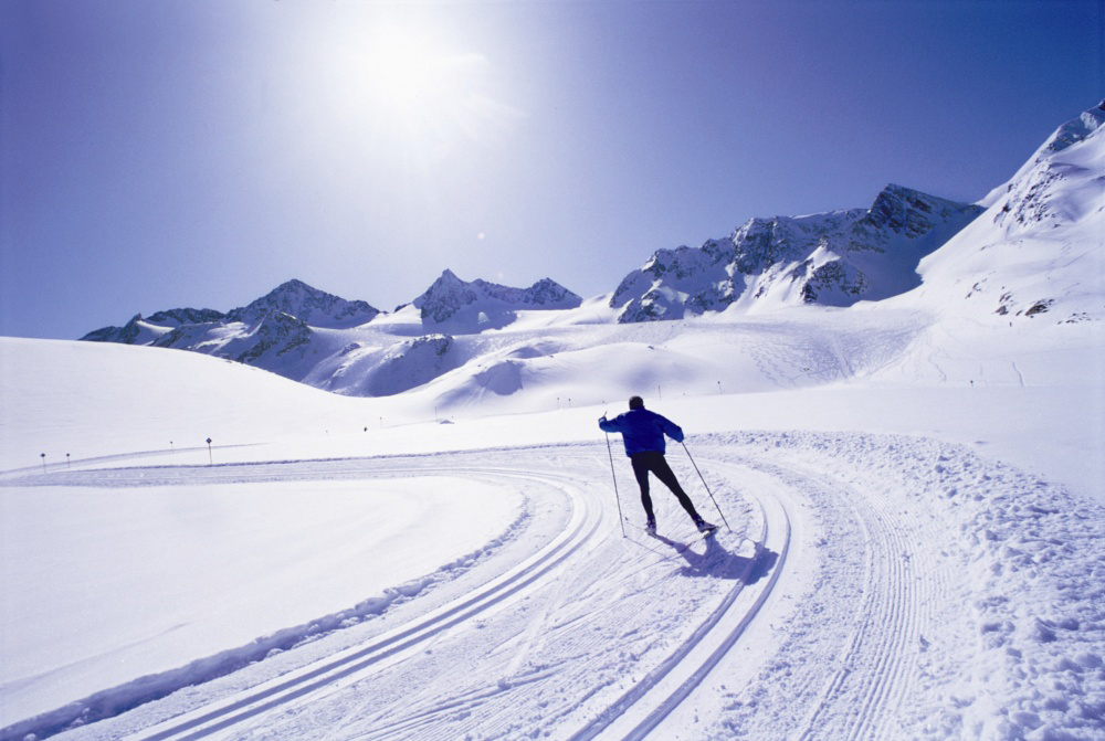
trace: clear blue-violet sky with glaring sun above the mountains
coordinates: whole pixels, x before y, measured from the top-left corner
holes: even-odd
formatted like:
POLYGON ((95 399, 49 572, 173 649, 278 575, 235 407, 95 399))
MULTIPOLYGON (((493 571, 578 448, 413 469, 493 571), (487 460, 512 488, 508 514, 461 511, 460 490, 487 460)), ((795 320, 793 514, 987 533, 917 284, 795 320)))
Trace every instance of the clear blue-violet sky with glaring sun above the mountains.
POLYGON ((753 216, 964 201, 1105 96, 1105 0, 0 0, 0 335, 585 296, 753 216))

